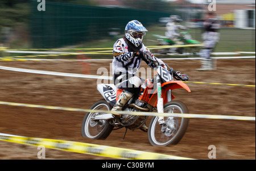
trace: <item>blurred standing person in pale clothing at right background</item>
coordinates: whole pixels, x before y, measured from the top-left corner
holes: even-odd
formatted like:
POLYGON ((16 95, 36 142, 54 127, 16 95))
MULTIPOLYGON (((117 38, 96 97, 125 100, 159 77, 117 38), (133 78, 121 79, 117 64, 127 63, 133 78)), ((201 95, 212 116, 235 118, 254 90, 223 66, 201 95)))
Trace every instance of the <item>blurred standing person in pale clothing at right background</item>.
POLYGON ((213 12, 208 12, 207 19, 203 23, 203 34, 202 39, 204 40, 204 47, 199 52, 201 57, 201 68, 197 70, 212 70, 213 61, 210 59, 210 53, 212 53, 213 48, 216 46, 218 39, 220 37, 220 33, 218 29, 220 28, 220 23, 215 18, 215 14, 213 12))

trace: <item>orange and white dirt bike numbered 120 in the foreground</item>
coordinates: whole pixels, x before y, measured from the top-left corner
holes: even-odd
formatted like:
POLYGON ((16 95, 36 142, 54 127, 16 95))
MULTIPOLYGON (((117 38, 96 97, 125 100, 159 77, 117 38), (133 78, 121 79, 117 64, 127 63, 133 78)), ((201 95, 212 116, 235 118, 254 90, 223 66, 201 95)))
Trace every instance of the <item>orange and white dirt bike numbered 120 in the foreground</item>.
MULTIPOLYGON (((184 75, 186 74, 177 74, 180 78, 184 75)), ((155 68, 154 78, 144 80, 140 93, 134 95, 123 107, 121 112, 125 112, 125 114, 122 114, 121 118, 115 119, 110 110, 123 90, 117 89, 113 84, 98 84, 97 90, 100 91, 104 99, 94 103, 90 107, 92 112, 85 114, 81 126, 82 136, 90 139, 106 139, 113 130, 122 127, 125 127, 126 131, 127 129, 141 128, 148 119, 146 112, 154 112, 154 110, 157 110, 157 113, 167 114, 188 113, 188 108, 183 102, 172 101, 175 98, 172 90, 179 88, 190 92, 184 82, 174 81, 174 74, 171 70, 159 65, 155 68), (132 115, 132 112, 139 112, 141 115, 132 115), (145 113, 143 114, 143 112, 145 113)), ((188 122, 188 118, 153 116, 147 130, 148 140, 154 146, 177 144, 184 136, 188 122)))

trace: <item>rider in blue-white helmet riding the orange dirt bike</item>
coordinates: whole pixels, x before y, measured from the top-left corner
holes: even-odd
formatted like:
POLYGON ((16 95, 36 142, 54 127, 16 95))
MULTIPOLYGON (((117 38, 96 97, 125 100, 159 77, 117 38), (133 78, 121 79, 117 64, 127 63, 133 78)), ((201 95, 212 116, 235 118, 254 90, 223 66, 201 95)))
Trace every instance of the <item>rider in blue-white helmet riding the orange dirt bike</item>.
MULTIPOLYGON (((114 43, 113 50, 113 82, 119 89, 123 89, 119 95, 118 101, 113 106, 112 111, 121 111, 122 107, 129 101, 134 94, 138 94, 141 90, 141 78, 135 76, 138 71, 141 61, 145 61, 148 66, 155 68, 155 62, 148 61, 149 57, 154 58, 158 65, 164 66, 174 74, 176 80, 187 81, 188 77, 182 77, 180 72, 175 72, 169 68, 160 59, 157 59, 148 48, 142 43, 143 36, 147 29, 138 20, 131 20, 125 27, 125 36, 118 39, 114 43)), ((119 119, 120 114, 113 114, 119 119)), ((163 124, 163 123, 162 123, 163 124)), ((142 131, 147 131, 146 125, 141 127, 142 131)))

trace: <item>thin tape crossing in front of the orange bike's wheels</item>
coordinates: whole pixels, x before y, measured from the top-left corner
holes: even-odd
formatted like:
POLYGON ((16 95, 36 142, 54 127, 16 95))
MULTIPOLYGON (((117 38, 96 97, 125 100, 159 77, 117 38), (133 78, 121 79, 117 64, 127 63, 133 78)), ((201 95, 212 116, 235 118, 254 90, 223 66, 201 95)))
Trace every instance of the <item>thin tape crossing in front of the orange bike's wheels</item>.
POLYGON ((35 107, 42 109, 53 110, 65 110, 65 111, 79 111, 79 112, 104 112, 110 114, 127 114, 127 115, 139 115, 139 116, 166 116, 166 117, 178 117, 178 118, 203 118, 203 119, 230 119, 230 120, 255 120, 255 117, 251 116, 230 116, 230 115, 202 115, 202 114, 176 114, 176 113, 159 113, 159 112, 130 112, 130 111, 106 111, 106 110, 90 110, 90 109, 77 109, 72 107, 59 107, 59 106, 45 106, 45 105, 31 105, 26 103, 14 103, 14 102, 2 102, 0 105, 10 106, 23 106, 23 107, 35 107))

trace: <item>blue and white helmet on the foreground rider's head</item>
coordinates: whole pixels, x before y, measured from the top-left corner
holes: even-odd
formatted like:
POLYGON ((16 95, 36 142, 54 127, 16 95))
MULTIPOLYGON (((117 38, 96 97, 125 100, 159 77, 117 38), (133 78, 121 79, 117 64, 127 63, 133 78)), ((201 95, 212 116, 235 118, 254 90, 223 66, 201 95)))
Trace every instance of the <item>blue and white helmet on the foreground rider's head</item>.
POLYGON ((147 29, 138 20, 132 20, 126 24, 125 27, 125 37, 135 47, 139 47, 142 43, 143 36, 146 35, 147 29))

